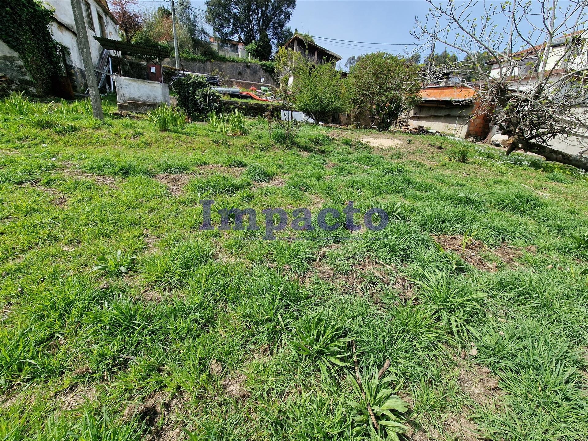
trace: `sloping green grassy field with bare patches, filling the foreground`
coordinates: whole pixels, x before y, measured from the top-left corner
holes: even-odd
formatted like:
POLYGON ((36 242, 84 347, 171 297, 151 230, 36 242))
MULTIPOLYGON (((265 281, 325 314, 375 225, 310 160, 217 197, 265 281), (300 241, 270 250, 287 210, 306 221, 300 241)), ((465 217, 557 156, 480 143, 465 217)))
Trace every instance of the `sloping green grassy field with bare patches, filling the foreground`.
POLYGON ((0 439, 588 439, 586 175, 88 112, 0 104, 0 439), (390 222, 270 241, 199 230, 201 199, 390 222))

